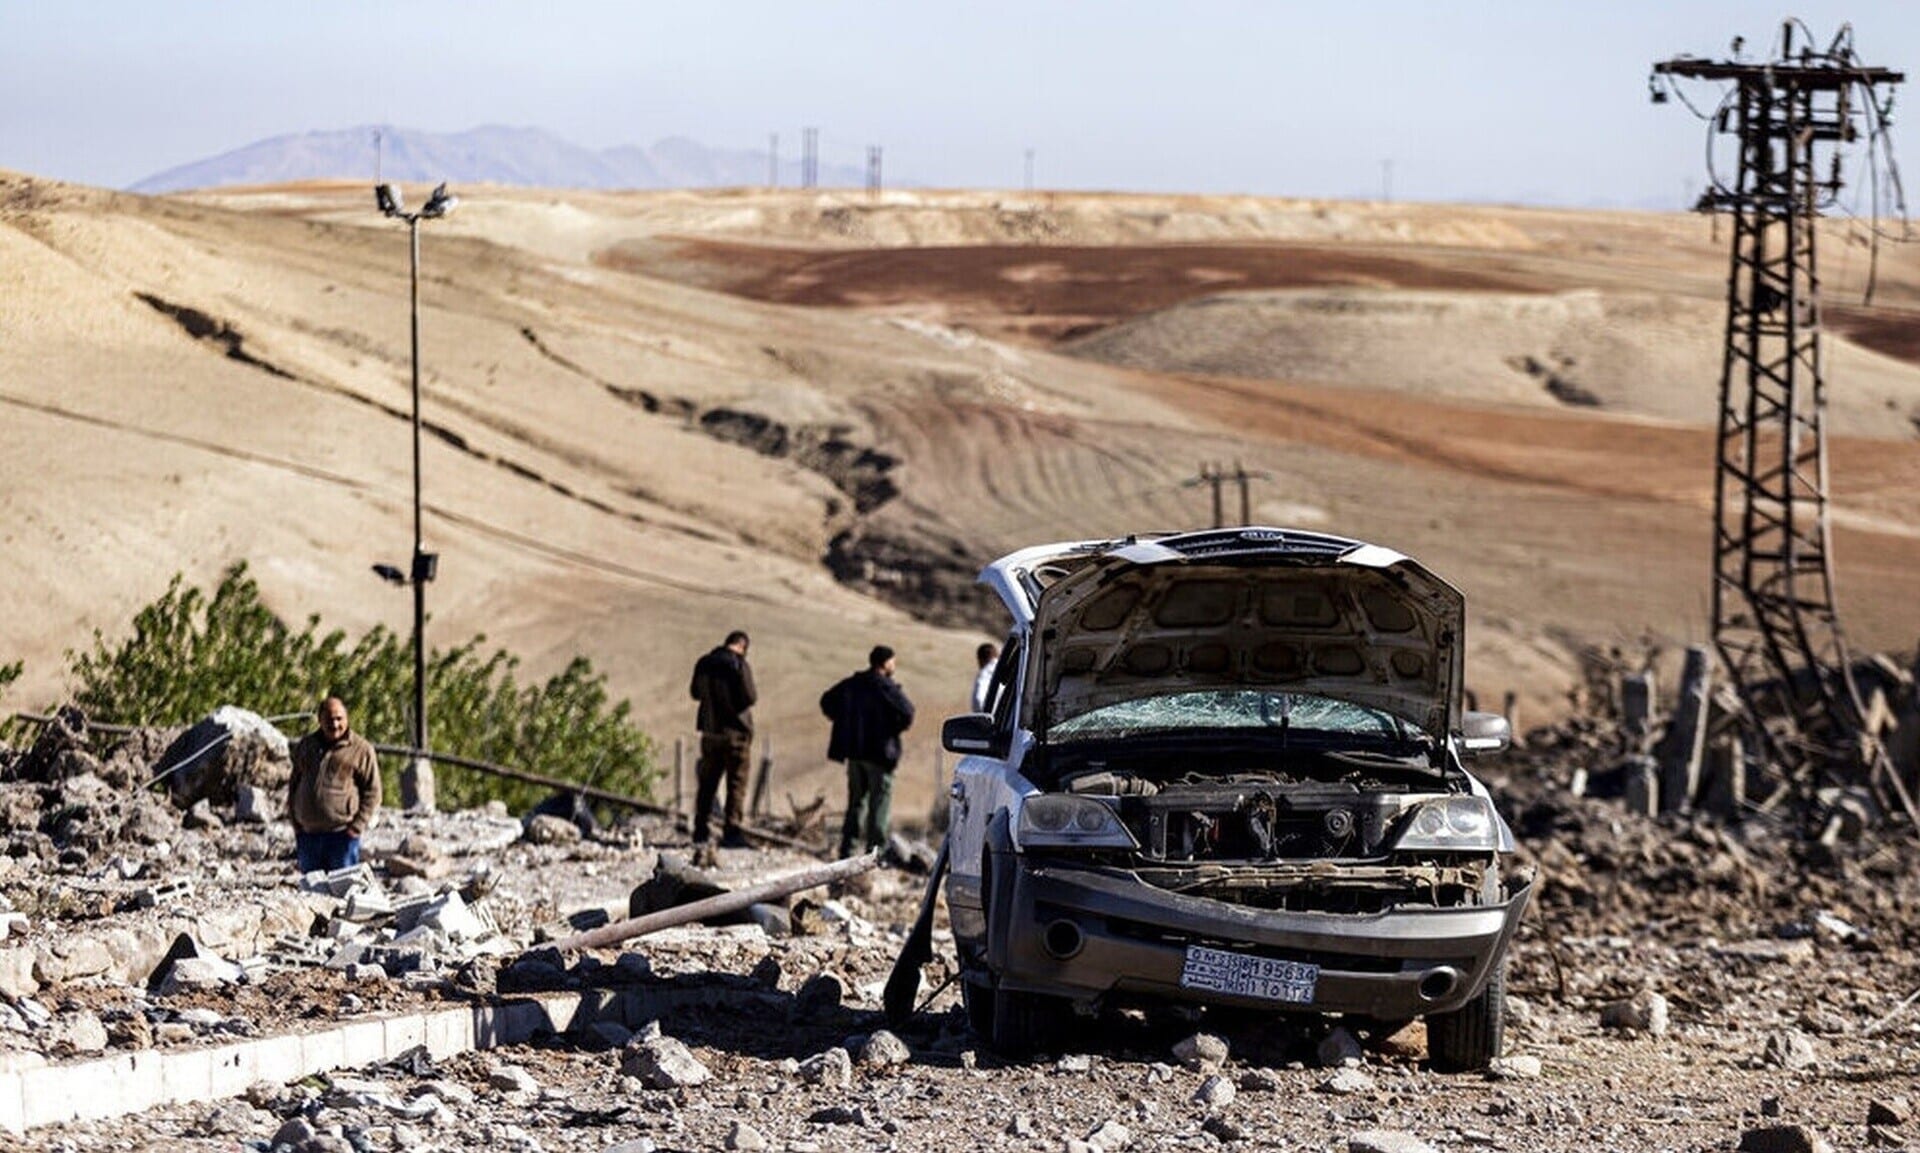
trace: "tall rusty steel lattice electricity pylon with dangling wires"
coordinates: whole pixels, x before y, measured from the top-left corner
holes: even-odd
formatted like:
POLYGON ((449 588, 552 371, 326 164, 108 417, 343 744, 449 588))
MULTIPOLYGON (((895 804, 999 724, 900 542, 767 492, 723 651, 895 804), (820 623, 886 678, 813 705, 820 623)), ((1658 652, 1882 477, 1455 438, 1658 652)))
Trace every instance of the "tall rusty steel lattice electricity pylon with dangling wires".
POLYGON ((1841 146, 1862 123, 1884 129, 1887 107, 1876 96, 1891 102, 1905 77, 1860 65, 1847 29, 1826 50, 1795 48, 1793 33, 1788 23, 1768 61, 1655 63, 1653 98, 1665 100, 1672 79, 1726 84, 1709 119, 1736 142, 1740 169, 1697 205, 1734 221, 1713 639, 1770 760, 1805 787, 1816 773, 1860 781, 1885 765, 1862 727, 1834 602, 1814 223, 1839 192, 1841 146))

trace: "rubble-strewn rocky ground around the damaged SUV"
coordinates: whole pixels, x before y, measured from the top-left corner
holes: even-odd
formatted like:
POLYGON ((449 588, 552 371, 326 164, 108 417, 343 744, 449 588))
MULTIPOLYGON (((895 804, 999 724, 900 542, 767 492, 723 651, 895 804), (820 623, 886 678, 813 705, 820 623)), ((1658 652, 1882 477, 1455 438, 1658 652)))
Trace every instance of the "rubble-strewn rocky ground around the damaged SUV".
MULTIPOLYGON (((12 1067, 526 988, 643 990, 662 1009, 637 1034, 599 1024, 438 1063, 413 1053, 0 1145, 1920 1149, 1912 833, 1822 844, 1759 817, 1640 817, 1567 788, 1594 741, 1532 737, 1486 773, 1540 888, 1513 955, 1507 1055, 1465 1076, 1427 1067, 1419 1024, 1361 1046, 1336 1023, 1221 1015, 1087 1023, 1043 1057, 1002 1061, 943 986, 939 932, 922 984, 939 992, 899 1034, 883 1028, 881 984, 924 886, 912 867, 799 894, 783 917, 557 953, 536 946, 626 915, 660 858, 685 856, 684 835, 664 821, 580 836, 505 813, 396 815, 371 838, 367 877, 303 886, 271 806, 182 813, 136 788, 161 737, 104 758, 42 737, 0 769, 0 948, 35 957, 25 973, 0 965, 12 1067), (376 898, 438 911, 401 930, 376 898), (144 971, 113 977, 171 929, 242 907, 263 911, 252 936, 209 946, 215 971, 175 967, 154 988, 144 971), (326 948, 292 955, 284 938, 300 929, 324 930, 326 948), (129 955, 88 963, 81 940, 129 955), (319 965, 353 944, 374 952, 319 965), (227 961, 242 965, 219 971, 227 961)), ((722 850, 712 877, 804 863, 785 848, 722 850)))

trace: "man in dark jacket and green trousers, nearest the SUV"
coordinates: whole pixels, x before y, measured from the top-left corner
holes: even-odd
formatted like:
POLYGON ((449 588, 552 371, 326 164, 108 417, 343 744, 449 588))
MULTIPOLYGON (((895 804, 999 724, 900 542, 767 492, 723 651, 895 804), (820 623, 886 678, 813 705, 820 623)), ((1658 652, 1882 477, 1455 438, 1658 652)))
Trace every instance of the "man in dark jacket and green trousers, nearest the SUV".
POLYGON ((866 670, 820 694, 820 712, 833 721, 828 760, 847 762, 847 821, 839 856, 856 840, 885 848, 893 810, 893 767, 900 764, 900 733, 914 723, 914 702, 893 679, 893 648, 876 645, 866 670))

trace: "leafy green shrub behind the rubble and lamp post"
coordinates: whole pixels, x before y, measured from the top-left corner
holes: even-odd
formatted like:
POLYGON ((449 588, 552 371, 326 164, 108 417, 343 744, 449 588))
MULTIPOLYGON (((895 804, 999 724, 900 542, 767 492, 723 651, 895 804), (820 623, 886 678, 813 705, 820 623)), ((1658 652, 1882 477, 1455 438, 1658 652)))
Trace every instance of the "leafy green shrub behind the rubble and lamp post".
MULTIPOLYGON (((653 742, 626 700, 607 696, 607 677, 574 658, 541 685, 515 679, 518 658, 484 652, 484 637, 426 660, 428 742, 447 752, 566 781, 651 798, 659 767, 653 742)), ((186 725, 223 704, 307 727, 323 696, 346 700, 353 729, 376 744, 407 744, 413 733, 413 647, 374 625, 349 643, 309 616, 296 631, 259 599, 246 564, 227 570, 211 597, 175 576, 167 593, 132 618, 132 635, 109 641, 98 629, 88 652, 69 652, 75 702, 90 718, 127 725, 186 725)), ((0 670, 0 687, 8 670, 0 670)), ((401 758, 382 758, 388 800, 397 796, 401 758)), ((547 788, 457 765, 436 765, 442 808, 505 800, 515 812, 547 788)))

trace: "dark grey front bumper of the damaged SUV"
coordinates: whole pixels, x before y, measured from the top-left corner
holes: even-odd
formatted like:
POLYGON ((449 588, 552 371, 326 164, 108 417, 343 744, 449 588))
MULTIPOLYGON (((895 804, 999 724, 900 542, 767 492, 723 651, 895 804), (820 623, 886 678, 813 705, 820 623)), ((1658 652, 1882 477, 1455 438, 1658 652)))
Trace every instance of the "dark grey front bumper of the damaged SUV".
POLYGON ((1135 994, 1382 1021, 1446 1013, 1480 994, 1532 896, 1526 884, 1500 906, 1294 913, 1165 892, 1125 869, 1014 861, 987 909, 989 969, 1000 988, 1075 1001, 1135 994), (1313 1000, 1185 988, 1190 944, 1319 965, 1313 1000))

